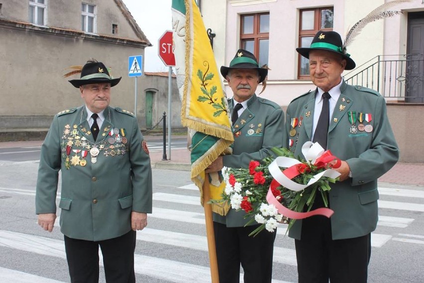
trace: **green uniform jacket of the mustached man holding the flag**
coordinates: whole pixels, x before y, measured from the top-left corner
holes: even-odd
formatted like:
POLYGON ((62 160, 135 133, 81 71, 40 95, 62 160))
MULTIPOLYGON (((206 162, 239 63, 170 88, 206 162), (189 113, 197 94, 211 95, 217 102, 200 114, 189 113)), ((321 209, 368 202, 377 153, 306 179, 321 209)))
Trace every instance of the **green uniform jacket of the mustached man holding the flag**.
MULTIPOLYGON (((232 112, 232 99, 228 100, 228 105, 232 112)), ((233 154, 222 156, 223 165, 231 168, 248 168, 250 161, 261 161, 273 155, 270 148, 282 147, 286 141, 283 129, 284 112, 281 107, 272 101, 253 95, 247 102, 247 109, 233 126, 233 154)), ((244 219, 245 215, 243 210, 230 209, 226 216, 213 213, 213 221, 226 224, 227 227, 242 227, 249 220, 244 219)))

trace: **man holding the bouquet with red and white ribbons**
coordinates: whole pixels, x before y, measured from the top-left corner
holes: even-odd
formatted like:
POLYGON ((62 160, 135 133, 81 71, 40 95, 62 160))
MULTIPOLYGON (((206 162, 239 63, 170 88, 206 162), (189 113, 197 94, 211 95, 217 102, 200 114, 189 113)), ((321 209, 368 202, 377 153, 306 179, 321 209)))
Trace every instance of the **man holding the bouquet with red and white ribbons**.
MULTIPOLYGON (((384 98, 372 89, 347 85, 341 78, 355 62, 334 31, 318 31, 309 58, 314 91, 294 99, 286 116, 288 147, 302 155, 306 141, 318 142, 340 158, 340 181, 331 184, 330 219, 297 220, 295 238, 300 283, 366 283, 371 232, 378 220, 377 178, 399 158, 384 98)), ((318 194, 313 208, 322 207, 318 194)))

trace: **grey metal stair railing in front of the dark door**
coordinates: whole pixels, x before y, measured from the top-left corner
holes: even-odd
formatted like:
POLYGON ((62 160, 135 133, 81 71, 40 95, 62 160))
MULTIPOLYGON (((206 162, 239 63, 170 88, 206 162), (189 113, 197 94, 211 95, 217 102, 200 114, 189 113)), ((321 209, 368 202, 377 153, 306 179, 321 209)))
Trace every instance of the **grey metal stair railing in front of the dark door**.
POLYGON ((378 55, 344 75, 388 101, 424 103, 424 54, 378 55))

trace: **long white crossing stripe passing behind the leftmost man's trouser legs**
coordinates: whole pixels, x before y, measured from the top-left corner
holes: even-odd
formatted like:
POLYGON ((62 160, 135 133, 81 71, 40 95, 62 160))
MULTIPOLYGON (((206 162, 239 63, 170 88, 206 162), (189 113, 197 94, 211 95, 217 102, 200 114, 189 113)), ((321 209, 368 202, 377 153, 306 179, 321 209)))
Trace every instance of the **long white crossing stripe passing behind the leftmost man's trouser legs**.
MULTIPOLYGON (((0 246, 66 259, 65 245, 63 241, 56 239, 0 230, 0 246)), ((99 253, 101 253, 101 251, 99 251, 99 253)), ((102 259, 100 262, 102 265, 102 259)), ((134 255, 134 270, 137 274, 174 283, 211 282, 211 271, 207 266, 193 265, 139 254, 134 255)), ((243 278, 242 274, 240 278, 243 278)), ((41 282, 50 283, 48 281, 40 281, 40 283, 41 282)), ((272 282, 289 283, 281 280, 273 280, 272 282)), ((58 282, 52 281, 51 283, 58 282)))

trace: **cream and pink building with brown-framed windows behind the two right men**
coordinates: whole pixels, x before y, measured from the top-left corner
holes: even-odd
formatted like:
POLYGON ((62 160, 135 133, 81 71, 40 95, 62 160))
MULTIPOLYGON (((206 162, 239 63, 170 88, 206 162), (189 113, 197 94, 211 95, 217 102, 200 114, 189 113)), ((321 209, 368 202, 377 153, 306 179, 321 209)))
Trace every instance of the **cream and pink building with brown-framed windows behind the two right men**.
MULTIPOLYGON (((228 66, 238 48, 253 52, 270 68, 262 97, 283 107, 316 87, 308 60, 297 47, 309 47, 318 30, 344 39, 361 18, 388 0, 226 0, 201 1, 206 28, 212 27, 218 67, 228 66)), ((422 162, 424 122, 424 1, 398 3, 398 15, 369 23, 347 46, 356 68, 343 73, 349 84, 379 91, 401 149, 401 161, 422 162)), ((261 91, 258 87, 257 93, 261 91)), ((231 94, 226 87, 227 95, 231 94)), ((230 95, 229 95, 230 96, 230 95)))

